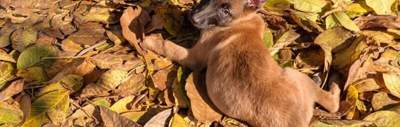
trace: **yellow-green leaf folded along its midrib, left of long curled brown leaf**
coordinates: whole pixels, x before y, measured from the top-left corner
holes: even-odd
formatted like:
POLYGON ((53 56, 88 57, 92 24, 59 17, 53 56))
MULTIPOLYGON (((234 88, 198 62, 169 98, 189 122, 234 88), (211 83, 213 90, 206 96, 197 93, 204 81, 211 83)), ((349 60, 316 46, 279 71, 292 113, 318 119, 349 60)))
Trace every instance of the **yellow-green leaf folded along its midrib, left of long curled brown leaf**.
POLYGON ((345 28, 352 31, 360 30, 355 22, 351 20, 350 17, 348 17, 347 14, 344 12, 334 12, 333 14, 326 17, 325 21, 326 29, 333 26, 344 26, 345 28))

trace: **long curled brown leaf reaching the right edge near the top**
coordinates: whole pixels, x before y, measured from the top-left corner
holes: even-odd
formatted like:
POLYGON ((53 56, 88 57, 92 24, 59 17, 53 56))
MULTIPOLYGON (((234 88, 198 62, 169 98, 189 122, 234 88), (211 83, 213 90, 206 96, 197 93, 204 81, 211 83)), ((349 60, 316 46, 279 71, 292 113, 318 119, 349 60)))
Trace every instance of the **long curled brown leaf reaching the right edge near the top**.
POLYGON ((392 15, 360 16, 354 19, 354 22, 358 25, 360 29, 374 27, 400 29, 400 17, 392 15))

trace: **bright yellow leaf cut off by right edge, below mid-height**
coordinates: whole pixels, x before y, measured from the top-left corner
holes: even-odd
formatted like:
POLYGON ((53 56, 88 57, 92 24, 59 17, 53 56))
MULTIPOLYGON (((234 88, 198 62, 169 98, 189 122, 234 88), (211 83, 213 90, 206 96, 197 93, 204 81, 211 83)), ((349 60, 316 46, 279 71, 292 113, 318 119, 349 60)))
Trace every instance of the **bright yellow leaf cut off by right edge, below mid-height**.
POLYGON ((383 80, 390 93, 400 97, 400 75, 383 73, 383 80))

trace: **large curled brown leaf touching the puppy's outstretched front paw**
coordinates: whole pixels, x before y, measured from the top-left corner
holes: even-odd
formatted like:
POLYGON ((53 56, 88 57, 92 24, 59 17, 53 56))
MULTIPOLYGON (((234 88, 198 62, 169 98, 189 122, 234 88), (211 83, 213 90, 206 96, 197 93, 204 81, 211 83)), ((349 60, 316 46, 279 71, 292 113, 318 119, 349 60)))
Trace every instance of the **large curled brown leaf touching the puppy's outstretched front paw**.
POLYGON ((139 46, 139 42, 144 39, 144 26, 149 20, 149 15, 143 11, 141 7, 134 6, 125 9, 120 18, 122 26, 122 35, 128 42, 135 47, 140 55, 144 55, 143 49, 139 46))

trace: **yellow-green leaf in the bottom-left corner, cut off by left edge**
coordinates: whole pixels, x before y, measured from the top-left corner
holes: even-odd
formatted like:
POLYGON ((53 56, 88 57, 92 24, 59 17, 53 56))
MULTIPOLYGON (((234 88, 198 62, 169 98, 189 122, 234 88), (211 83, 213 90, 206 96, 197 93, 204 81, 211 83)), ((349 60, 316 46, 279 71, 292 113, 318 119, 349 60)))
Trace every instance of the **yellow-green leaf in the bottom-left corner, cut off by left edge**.
POLYGON ((23 112, 18 106, 0 102, 0 124, 16 124, 22 120, 23 112))

